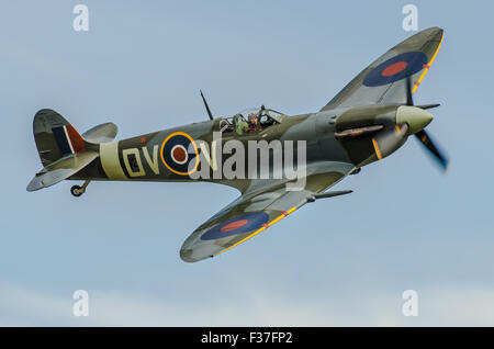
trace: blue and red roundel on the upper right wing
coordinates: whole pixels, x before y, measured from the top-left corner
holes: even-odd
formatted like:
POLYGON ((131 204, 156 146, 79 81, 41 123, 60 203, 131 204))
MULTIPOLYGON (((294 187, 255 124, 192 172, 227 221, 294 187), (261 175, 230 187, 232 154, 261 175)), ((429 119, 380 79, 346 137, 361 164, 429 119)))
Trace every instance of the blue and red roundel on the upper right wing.
POLYGON ((423 52, 407 52, 394 56, 372 69, 362 83, 377 87, 409 77, 427 67, 427 56, 423 52))

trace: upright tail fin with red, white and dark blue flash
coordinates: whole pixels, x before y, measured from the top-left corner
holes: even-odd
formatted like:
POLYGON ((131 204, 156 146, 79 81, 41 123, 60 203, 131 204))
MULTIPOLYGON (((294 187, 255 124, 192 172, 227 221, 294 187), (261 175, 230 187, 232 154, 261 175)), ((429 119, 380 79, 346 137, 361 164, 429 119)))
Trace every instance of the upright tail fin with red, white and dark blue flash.
POLYGON ((34 115, 34 139, 44 167, 60 158, 86 151, 81 135, 57 112, 43 109, 34 115))

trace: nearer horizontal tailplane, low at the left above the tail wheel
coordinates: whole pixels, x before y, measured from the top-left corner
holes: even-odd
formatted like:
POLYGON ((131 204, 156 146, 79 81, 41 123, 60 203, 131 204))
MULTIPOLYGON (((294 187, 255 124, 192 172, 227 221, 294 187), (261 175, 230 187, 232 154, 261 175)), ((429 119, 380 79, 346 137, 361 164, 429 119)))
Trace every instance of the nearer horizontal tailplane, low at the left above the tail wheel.
POLYGON ((35 191, 56 184, 79 172, 97 157, 99 157, 97 151, 85 151, 66 156, 36 173, 33 180, 27 184, 26 190, 35 191))

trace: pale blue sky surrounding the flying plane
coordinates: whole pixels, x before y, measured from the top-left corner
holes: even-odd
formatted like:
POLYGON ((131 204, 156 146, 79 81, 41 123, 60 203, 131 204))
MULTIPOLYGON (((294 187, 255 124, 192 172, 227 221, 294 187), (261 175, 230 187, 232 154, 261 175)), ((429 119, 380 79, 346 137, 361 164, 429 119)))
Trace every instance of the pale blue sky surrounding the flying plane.
MULTIPOLYGON (((25 187, 43 108, 119 139, 265 104, 315 112, 390 47, 403 1, 2 1, 1 326, 494 326, 492 1, 414 1, 445 40, 417 92, 451 158, 411 138, 213 259, 187 236, 238 194, 212 183, 25 187), (76 32, 72 9, 89 9, 76 32), (75 316, 72 294, 89 294, 75 316), (418 316, 404 316, 414 290, 418 316)), ((80 184, 80 183, 79 183, 80 184)))

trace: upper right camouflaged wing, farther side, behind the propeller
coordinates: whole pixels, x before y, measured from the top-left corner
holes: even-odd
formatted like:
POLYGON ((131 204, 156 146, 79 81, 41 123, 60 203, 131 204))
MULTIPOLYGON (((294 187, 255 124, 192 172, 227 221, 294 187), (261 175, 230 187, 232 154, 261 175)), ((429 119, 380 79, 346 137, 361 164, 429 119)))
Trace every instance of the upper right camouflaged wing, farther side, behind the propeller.
POLYGON ((351 80, 321 111, 368 104, 406 103, 407 77, 412 93, 429 70, 442 42, 442 30, 429 27, 397 44, 351 80))

